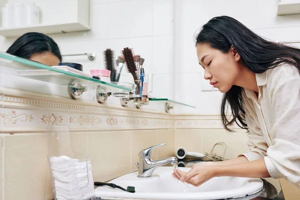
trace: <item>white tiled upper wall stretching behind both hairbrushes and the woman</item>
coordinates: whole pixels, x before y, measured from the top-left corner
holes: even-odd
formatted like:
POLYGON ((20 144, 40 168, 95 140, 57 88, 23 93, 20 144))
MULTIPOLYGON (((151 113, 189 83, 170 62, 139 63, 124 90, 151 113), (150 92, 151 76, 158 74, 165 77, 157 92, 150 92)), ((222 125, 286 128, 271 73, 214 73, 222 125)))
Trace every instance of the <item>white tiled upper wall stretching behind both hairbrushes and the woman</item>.
MULTIPOLYGON (((193 104, 197 109, 192 112, 216 114, 222 94, 201 91, 205 81, 196 57, 196 32, 211 17, 229 15, 266 38, 300 40, 300 14, 278 16, 277 1, 90 0, 90 31, 50 36, 63 54, 94 51, 97 58, 92 62, 84 56, 64 58, 82 63, 87 72, 103 67, 103 49, 110 47, 119 55, 123 47, 132 47, 145 58, 146 72, 153 74, 153 94, 193 104)), ((14 39, 0 37, 0 50, 14 39)), ((124 70, 120 80, 131 79, 124 70)))

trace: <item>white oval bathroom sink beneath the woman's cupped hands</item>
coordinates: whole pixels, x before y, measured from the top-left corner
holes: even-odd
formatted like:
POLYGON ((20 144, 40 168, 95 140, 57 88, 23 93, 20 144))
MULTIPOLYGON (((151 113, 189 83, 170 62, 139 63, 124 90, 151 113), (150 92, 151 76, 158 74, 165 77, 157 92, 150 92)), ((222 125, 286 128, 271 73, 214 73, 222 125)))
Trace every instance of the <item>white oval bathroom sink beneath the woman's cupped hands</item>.
MULTIPOLYGON (((178 167, 188 171, 188 167, 178 167)), ((123 188, 134 186, 135 193, 101 186, 95 189, 96 197, 119 197, 139 199, 252 199, 263 189, 259 178, 214 177, 198 187, 181 182, 172 176, 173 167, 161 166, 154 170, 152 177, 139 178, 132 172, 115 178, 109 182, 123 188)))

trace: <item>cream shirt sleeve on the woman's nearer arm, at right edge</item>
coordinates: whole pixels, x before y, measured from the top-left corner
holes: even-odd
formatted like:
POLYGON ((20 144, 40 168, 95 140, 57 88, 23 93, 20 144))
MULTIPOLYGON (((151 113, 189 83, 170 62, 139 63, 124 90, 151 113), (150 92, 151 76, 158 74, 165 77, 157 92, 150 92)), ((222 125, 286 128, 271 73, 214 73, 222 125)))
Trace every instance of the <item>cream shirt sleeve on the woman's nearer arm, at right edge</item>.
POLYGON ((266 151, 265 165, 272 177, 286 178, 300 188, 300 75, 282 74, 269 84, 274 139, 266 151))

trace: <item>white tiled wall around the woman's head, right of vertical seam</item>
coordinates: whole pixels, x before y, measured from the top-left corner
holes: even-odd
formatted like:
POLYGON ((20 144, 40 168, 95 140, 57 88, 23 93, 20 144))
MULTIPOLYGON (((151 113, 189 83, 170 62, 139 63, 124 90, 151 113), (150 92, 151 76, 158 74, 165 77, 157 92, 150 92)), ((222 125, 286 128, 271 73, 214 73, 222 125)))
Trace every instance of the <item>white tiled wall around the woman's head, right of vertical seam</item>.
POLYGON ((182 30, 174 38, 174 41, 182 41, 182 48, 175 49, 176 55, 182 56, 182 63, 176 65, 174 78, 180 83, 175 98, 197 107, 195 110, 185 109, 188 112, 219 113, 222 94, 219 91, 201 91, 205 88, 201 86, 204 82, 199 79, 203 78, 203 69, 198 64, 194 46, 194 36, 210 18, 228 15, 263 37, 278 41, 300 40, 300 14, 278 16, 278 0, 175 0, 174 3, 181 7, 182 15, 181 21, 174 22, 174 25, 182 23, 179 24, 182 30))

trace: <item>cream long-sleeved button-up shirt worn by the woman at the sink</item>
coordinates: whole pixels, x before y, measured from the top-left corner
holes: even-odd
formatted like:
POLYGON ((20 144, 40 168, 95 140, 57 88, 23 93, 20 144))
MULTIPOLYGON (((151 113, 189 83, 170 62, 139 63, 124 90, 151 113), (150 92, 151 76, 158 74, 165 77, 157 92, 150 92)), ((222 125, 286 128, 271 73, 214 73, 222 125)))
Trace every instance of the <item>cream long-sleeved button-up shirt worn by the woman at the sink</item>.
POLYGON ((242 93, 249 128, 244 154, 249 161, 264 158, 273 178, 285 178, 300 189, 300 75, 292 64, 280 64, 256 74, 258 99, 242 93))

